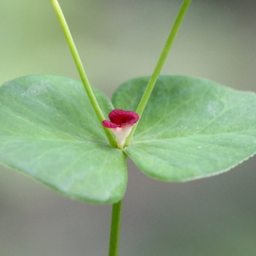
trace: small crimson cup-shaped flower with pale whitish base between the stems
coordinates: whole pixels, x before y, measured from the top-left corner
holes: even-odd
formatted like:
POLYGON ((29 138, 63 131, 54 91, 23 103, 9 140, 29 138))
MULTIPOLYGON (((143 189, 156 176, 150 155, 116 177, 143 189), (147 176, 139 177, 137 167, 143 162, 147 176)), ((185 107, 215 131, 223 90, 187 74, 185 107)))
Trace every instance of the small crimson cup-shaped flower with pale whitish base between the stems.
POLYGON ((133 111, 125 111, 122 109, 113 109, 108 117, 110 121, 102 121, 102 125, 113 131, 119 146, 123 147, 125 144, 125 138, 131 132, 131 127, 137 123, 140 119, 138 114, 133 111))

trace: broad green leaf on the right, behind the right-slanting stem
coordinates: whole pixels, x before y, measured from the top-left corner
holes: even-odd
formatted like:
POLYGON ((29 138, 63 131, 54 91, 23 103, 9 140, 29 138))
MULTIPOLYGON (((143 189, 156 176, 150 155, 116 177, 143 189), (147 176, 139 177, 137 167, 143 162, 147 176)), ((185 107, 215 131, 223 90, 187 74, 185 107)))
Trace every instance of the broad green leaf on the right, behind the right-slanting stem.
MULTIPOLYGON (((122 84, 115 108, 135 111, 147 78, 122 84)), ((256 97, 205 79, 160 76, 125 153, 150 177, 181 182, 228 171, 256 153, 256 97)))

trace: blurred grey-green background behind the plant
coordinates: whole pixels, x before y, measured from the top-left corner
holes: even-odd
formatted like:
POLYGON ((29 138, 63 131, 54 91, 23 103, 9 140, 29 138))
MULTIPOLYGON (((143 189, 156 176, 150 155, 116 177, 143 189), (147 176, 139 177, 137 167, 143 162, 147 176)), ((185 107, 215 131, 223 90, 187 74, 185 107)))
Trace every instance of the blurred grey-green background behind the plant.
MULTIPOLYGON (((182 1, 60 0, 90 83, 108 96, 150 74, 182 1)), ((256 2, 192 1, 162 73, 256 90, 256 2)), ((79 79, 49 1, 0 3, 0 84, 33 73, 79 79)), ((256 159, 190 183, 129 165, 119 255, 256 255, 256 159)), ((0 255, 108 255, 110 206, 71 201, 0 169, 0 255)))

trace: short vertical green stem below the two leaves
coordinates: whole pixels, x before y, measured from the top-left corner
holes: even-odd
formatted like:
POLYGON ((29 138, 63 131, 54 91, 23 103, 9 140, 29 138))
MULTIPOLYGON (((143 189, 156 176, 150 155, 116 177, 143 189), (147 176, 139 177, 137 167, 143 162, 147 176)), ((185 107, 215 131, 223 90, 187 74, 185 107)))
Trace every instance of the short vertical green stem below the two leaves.
POLYGON ((108 256, 117 256, 119 250, 119 230, 121 223, 122 212, 122 200, 113 204, 112 207, 112 219, 111 219, 111 231, 109 241, 109 253, 108 256))

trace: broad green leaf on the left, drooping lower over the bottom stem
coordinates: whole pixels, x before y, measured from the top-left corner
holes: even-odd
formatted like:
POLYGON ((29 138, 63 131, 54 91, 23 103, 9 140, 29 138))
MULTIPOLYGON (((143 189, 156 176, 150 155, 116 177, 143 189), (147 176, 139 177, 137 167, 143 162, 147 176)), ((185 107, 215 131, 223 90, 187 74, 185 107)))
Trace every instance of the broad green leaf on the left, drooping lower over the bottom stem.
MULTIPOLYGON (((111 102, 95 93, 108 115, 111 102)), ((81 201, 113 203, 125 193, 125 155, 109 147, 73 79, 28 76, 0 87, 0 161, 81 201)))

